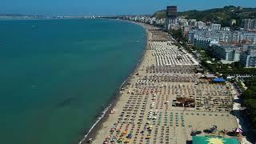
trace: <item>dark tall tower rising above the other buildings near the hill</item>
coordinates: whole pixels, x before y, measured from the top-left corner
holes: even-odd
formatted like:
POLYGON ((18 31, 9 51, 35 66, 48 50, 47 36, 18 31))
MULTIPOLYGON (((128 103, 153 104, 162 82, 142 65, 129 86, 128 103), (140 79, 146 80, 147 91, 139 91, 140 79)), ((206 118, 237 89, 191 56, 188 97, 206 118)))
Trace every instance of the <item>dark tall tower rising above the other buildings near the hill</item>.
POLYGON ((171 25, 177 24, 177 6, 166 7, 166 30, 170 30, 171 25))

